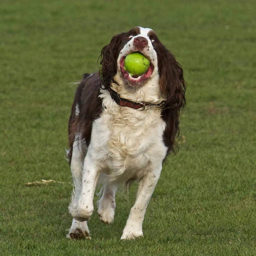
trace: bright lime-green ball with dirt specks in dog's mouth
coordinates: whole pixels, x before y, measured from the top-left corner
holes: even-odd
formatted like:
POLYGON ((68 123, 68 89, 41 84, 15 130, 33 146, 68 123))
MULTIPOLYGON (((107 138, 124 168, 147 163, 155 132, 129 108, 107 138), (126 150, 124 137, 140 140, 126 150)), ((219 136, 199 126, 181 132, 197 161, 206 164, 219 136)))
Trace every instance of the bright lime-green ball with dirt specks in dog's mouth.
POLYGON ((131 75, 142 75, 149 66, 150 61, 141 53, 131 53, 125 57, 124 68, 131 75))

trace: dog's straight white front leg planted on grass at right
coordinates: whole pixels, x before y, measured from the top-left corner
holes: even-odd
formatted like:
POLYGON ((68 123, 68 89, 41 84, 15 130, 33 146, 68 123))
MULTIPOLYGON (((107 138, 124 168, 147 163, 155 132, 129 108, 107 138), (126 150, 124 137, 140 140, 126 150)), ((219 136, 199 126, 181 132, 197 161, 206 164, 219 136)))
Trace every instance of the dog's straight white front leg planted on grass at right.
POLYGON ((144 215, 159 179, 161 169, 162 167, 148 171, 140 180, 136 201, 131 208, 121 239, 134 239, 143 236, 142 223, 144 215))

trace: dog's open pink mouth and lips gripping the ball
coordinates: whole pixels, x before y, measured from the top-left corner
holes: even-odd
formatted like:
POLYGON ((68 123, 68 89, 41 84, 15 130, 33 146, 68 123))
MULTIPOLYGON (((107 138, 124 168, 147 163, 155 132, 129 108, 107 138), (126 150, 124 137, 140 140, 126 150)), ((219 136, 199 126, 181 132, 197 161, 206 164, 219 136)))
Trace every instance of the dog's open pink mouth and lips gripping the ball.
POLYGON ((120 70, 121 70, 121 72, 122 72, 122 74, 123 74, 123 76, 126 80, 128 80, 132 84, 136 84, 136 83, 147 80, 152 75, 152 73, 154 71, 154 65, 151 62, 150 62, 150 66, 148 67, 148 70, 144 74, 142 74, 142 75, 132 75, 132 74, 130 74, 128 71, 125 70, 125 67, 124 67, 126 56, 123 56, 120 59, 120 62, 119 62, 120 70))

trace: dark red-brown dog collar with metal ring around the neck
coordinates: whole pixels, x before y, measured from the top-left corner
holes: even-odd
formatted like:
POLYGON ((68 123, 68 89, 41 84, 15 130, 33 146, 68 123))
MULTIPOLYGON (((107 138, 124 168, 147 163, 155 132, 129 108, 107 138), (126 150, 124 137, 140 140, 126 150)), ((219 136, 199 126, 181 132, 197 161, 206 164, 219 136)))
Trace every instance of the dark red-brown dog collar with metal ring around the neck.
POLYGON ((120 95, 116 91, 111 89, 110 87, 108 87, 107 90, 109 91, 111 98, 115 101, 116 104, 118 104, 119 106, 126 106, 126 107, 132 108, 132 109, 148 110, 148 109, 150 109, 151 106, 155 106, 156 108, 161 109, 161 108, 163 108, 163 106, 166 103, 166 100, 163 100, 158 104, 154 104, 154 103, 150 103, 150 102, 146 102, 146 101, 134 102, 134 101, 127 100, 124 98, 120 98, 120 95))

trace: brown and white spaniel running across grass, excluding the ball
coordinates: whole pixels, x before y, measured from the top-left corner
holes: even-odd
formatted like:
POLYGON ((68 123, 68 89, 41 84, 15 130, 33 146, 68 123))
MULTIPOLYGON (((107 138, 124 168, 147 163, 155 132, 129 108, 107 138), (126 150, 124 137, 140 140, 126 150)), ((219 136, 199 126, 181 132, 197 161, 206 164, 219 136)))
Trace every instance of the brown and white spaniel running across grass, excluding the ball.
POLYGON ((149 28, 115 35, 100 59, 99 72, 85 74, 78 86, 69 119, 74 191, 67 237, 89 235, 87 221, 94 211, 97 184, 102 184, 98 214, 110 224, 118 185, 138 180, 137 197, 121 236, 133 239, 143 235, 142 222, 162 162, 176 150, 186 83, 180 64, 149 28), (124 68, 125 57, 133 52, 150 60, 143 75, 131 75, 124 68))

